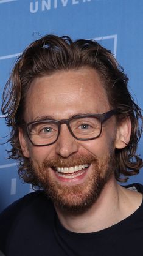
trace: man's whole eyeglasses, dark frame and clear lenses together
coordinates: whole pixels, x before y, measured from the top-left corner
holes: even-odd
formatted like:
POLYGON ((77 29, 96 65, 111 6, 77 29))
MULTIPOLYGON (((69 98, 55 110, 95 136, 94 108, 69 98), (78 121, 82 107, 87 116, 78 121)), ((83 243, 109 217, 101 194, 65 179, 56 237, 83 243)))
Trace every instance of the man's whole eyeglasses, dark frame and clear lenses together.
POLYGON ((102 133, 103 122, 111 118, 116 110, 103 114, 77 115, 65 120, 44 120, 21 124, 34 146, 48 146, 58 140, 61 124, 68 126, 69 132, 77 140, 94 140, 102 133))

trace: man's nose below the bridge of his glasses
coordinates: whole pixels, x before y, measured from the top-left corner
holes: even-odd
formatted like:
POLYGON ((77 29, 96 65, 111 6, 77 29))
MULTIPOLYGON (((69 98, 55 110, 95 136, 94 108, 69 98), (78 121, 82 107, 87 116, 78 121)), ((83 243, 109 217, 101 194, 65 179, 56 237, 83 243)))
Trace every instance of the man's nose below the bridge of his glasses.
POLYGON ((72 137, 66 124, 61 125, 60 135, 55 148, 56 153, 65 158, 78 152, 78 141, 72 137))

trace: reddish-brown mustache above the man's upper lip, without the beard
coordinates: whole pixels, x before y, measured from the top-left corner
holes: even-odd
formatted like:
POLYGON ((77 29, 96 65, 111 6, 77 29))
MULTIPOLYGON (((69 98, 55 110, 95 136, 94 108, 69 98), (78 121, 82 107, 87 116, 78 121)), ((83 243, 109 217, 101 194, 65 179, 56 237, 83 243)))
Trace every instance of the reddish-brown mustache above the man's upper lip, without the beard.
POLYGON ((42 168, 48 167, 72 167, 75 165, 81 164, 91 164, 92 162, 96 162, 98 164, 98 159, 96 156, 92 155, 80 155, 80 156, 71 156, 68 159, 57 156, 52 157, 51 159, 45 159, 42 168))

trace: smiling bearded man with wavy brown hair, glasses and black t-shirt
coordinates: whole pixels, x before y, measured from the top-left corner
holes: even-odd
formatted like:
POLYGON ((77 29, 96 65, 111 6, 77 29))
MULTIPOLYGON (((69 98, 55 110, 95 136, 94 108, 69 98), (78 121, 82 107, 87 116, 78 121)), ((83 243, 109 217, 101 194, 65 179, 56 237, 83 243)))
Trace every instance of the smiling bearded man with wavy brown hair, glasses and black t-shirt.
POLYGON ((110 51, 47 35, 18 58, 2 113, 19 176, 39 190, 1 214, 5 255, 143 255, 141 109, 110 51))

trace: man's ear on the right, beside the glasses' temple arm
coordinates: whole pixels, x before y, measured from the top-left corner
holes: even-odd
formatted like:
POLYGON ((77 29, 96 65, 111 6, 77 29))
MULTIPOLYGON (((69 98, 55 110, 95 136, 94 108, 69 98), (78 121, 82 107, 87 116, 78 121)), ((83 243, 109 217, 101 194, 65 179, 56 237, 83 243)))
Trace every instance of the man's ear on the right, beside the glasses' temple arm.
POLYGON ((126 118, 117 127, 115 147, 118 149, 125 148, 130 141, 131 136, 131 120, 126 118))

